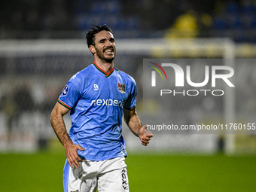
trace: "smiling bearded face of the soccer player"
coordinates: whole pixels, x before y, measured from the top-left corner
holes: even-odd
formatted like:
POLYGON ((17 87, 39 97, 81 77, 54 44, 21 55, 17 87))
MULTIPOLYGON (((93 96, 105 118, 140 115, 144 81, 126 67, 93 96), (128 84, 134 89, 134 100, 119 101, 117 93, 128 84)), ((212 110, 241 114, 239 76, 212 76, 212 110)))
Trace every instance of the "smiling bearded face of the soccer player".
POLYGON ((112 62, 115 57, 114 35, 111 32, 101 31, 95 35, 95 46, 90 45, 90 51, 102 62, 112 62))

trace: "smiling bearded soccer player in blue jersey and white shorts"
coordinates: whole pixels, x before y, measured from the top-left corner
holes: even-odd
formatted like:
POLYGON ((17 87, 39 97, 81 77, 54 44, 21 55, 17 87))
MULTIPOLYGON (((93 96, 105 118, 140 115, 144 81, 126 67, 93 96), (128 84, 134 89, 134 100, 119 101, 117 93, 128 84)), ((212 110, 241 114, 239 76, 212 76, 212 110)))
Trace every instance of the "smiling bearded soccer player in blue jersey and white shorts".
POLYGON ((136 113, 136 82, 114 67, 111 29, 93 26, 86 38, 94 62, 69 80, 50 117, 66 149, 64 190, 129 191, 122 116, 142 145, 148 145, 153 135, 136 113), (69 110, 72 126, 68 135, 62 116, 69 110))

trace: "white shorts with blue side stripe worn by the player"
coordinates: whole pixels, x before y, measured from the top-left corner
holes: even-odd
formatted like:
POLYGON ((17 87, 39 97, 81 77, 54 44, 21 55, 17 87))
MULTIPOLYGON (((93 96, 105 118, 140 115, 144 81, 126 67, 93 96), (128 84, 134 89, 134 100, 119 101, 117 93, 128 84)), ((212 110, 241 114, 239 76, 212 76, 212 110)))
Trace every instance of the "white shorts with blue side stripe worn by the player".
POLYGON ((124 157, 111 160, 83 160, 80 167, 71 168, 68 160, 63 172, 65 192, 127 192, 128 176, 124 157))

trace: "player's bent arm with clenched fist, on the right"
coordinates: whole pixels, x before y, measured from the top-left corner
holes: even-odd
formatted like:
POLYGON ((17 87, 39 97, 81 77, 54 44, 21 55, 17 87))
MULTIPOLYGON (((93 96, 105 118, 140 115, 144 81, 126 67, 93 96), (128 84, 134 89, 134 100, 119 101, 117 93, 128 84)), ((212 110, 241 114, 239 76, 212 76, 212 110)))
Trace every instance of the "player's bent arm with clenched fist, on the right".
POLYGON ((133 134, 139 137, 142 145, 147 146, 153 134, 148 131, 148 125, 142 126, 142 121, 139 119, 136 109, 128 110, 123 108, 123 117, 133 134))

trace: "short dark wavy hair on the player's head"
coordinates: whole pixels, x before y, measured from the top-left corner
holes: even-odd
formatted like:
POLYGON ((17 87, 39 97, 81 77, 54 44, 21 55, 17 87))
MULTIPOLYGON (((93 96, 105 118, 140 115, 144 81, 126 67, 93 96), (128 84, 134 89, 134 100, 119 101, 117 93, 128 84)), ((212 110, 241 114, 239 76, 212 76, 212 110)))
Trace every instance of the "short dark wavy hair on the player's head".
POLYGON ((104 30, 113 33, 112 30, 106 24, 104 24, 104 26, 100 26, 100 24, 98 23, 98 26, 92 26, 92 30, 87 32, 87 35, 85 36, 85 38, 87 39, 88 47, 90 47, 90 45, 95 46, 95 35, 104 30))

